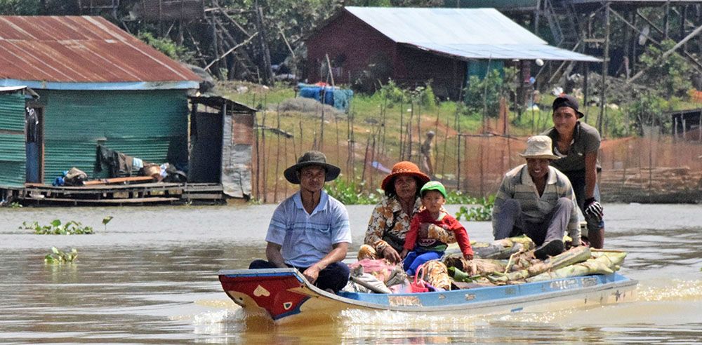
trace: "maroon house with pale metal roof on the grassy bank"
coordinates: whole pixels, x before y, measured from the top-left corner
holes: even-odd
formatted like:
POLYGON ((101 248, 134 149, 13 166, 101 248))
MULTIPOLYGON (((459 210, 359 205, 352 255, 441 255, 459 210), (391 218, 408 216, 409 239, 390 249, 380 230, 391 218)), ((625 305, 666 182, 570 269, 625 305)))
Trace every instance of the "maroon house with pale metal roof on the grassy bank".
POLYGON ((475 72, 471 64, 537 58, 600 61, 548 46, 494 8, 345 7, 305 43, 307 82, 333 79, 377 86, 390 78, 414 86, 431 80, 437 96, 453 99, 475 72))

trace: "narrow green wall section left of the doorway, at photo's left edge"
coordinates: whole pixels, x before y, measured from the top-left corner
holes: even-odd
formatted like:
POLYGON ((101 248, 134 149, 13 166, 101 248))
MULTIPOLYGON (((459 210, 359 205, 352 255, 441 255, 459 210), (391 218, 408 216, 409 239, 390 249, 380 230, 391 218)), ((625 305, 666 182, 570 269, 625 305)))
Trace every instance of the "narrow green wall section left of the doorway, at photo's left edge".
POLYGON ((25 95, 0 93, 0 186, 25 185, 25 95))

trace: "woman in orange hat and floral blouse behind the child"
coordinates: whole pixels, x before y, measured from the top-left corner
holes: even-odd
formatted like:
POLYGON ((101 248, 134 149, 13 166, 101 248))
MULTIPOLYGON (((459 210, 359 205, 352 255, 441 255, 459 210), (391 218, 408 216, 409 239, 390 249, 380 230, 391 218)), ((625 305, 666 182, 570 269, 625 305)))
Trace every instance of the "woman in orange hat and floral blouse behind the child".
MULTIPOLYGON (((402 252, 409 224, 422 205, 419 191, 429 180, 415 163, 402 161, 392 166, 392 172, 380 184, 385 196, 373 209, 364 245, 358 251, 359 259, 383 257, 390 262, 401 261, 399 253, 402 252)), ((429 223, 420 226, 418 237, 437 238, 444 243, 456 242, 451 231, 429 223)))

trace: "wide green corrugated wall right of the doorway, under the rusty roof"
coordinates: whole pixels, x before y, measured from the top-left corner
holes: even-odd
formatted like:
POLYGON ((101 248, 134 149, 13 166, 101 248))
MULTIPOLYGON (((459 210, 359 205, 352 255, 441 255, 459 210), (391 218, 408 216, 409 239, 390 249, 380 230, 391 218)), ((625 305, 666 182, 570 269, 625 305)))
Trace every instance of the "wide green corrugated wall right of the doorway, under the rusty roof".
POLYGON ((98 142, 152 163, 187 163, 185 90, 35 91, 45 106, 45 183, 72 167, 107 177, 93 173, 98 142))

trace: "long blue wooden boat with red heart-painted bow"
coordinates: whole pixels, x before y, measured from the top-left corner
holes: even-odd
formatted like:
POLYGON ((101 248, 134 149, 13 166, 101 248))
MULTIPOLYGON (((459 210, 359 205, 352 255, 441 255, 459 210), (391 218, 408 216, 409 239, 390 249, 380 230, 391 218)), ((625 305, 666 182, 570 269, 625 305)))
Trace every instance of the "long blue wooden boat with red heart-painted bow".
POLYGON ((480 315, 600 306, 633 299, 637 285, 612 273, 444 292, 334 295, 307 282, 297 269, 223 270, 219 279, 246 312, 276 323, 309 322, 349 309, 480 315))

